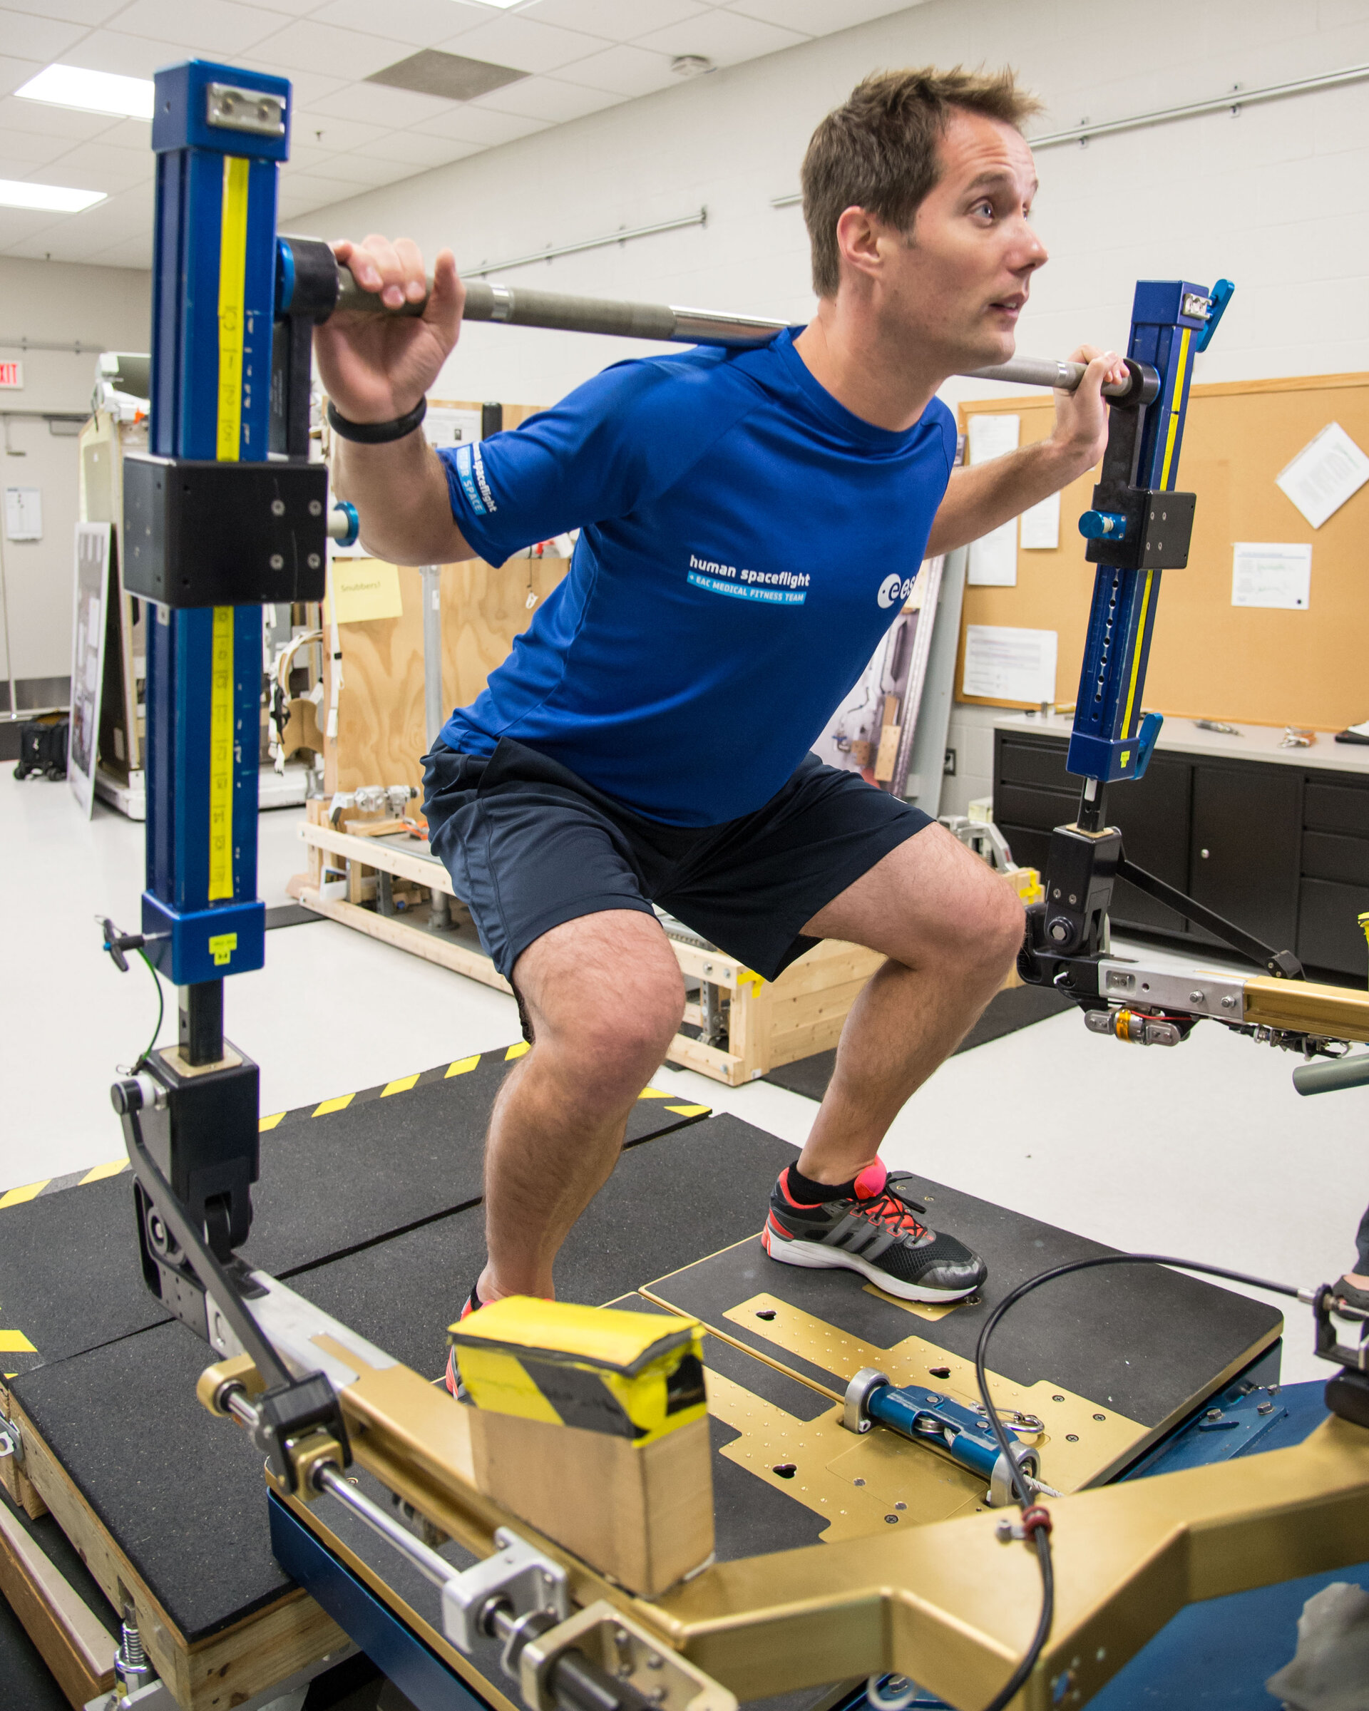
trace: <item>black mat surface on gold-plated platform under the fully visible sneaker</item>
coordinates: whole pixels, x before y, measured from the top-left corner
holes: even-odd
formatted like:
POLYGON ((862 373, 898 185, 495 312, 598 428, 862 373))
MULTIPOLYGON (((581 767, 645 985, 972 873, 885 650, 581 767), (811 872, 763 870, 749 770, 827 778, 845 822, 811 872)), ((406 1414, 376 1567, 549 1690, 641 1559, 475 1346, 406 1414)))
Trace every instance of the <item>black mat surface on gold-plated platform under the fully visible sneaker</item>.
MULTIPOLYGON (((989 1280, 975 1304, 939 1319, 910 1314, 873 1294, 854 1271, 779 1264, 760 1240, 743 1240, 652 1283, 650 1290, 840 1394, 849 1372, 784 1353, 767 1340, 763 1326, 751 1329, 726 1319, 726 1311, 770 1294, 876 1348, 921 1336, 974 1359, 986 1316, 1018 1283, 1070 1259, 1114 1252, 939 1182, 921 1179, 916 1191, 929 1222, 960 1237, 989 1264, 989 1280)), ((1107 1266, 1047 1283, 1016 1304, 994 1333, 989 1367, 1022 1384, 1049 1379, 1157 1427, 1196 1406, 1229 1367, 1254 1359, 1282 1323, 1275 1307, 1177 1271, 1107 1266)))

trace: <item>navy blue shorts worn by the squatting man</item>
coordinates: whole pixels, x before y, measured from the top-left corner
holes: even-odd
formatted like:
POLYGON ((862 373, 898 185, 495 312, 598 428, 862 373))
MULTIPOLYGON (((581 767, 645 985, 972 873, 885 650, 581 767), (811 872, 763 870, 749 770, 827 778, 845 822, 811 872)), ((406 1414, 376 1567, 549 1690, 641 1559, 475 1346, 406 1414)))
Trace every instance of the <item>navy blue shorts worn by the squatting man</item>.
POLYGON ((652 903, 773 980, 818 943, 804 922, 931 825, 816 755, 763 808, 720 826, 647 820, 507 737, 488 758, 438 743, 423 782, 433 854, 507 980, 563 921, 649 915, 652 903))

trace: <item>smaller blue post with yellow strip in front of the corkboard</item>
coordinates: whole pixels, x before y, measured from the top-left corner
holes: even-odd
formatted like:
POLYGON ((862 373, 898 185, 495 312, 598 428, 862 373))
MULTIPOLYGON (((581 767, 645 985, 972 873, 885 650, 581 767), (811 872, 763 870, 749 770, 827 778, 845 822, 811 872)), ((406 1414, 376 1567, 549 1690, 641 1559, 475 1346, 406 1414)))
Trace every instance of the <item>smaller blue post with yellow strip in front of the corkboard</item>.
MULTIPOLYGON (((1208 293, 1186 281, 1143 279, 1131 310, 1128 356, 1150 364, 1160 376, 1159 397, 1145 409, 1138 433, 1109 435, 1102 483, 1093 503, 1109 524, 1124 524, 1116 539, 1093 539, 1088 556, 1100 559, 1093 580, 1093 604, 1080 671, 1075 729, 1066 765, 1070 772, 1100 784, 1135 779, 1145 760, 1141 693, 1160 597, 1164 530, 1169 508, 1162 494, 1174 493, 1179 447, 1193 380, 1193 358, 1212 318, 1208 293), (1116 438, 1116 443, 1114 443, 1116 438), (1129 467, 1121 467, 1128 464, 1129 467), (1140 503, 1131 513, 1111 515, 1109 494, 1133 489, 1140 503)), ((1191 518, 1191 496, 1181 496, 1191 518)), ((1176 508, 1174 534, 1179 534, 1176 508)), ((1184 541, 1188 536, 1184 534, 1184 541)), ((1176 563, 1172 558, 1169 563, 1176 563)), ((1159 725, 1159 722, 1157 722, 1159 725)))

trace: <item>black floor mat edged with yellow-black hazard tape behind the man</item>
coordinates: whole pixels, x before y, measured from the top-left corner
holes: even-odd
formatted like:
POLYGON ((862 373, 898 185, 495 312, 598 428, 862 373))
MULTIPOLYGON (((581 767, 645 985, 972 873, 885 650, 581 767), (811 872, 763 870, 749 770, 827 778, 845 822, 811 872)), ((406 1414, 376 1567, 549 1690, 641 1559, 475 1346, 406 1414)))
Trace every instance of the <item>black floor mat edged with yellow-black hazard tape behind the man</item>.
MULTIPOLYGON (((243 1256, 289 1276, 476 1203, 484 1129, 507 1073, 507 1051, 483 1052, 404 1076, 388 1092, 342 1093, 264 1119, 262 1179, 243 1256)), ((640 1098, 628 1145, 705 1112, 671 1097, 640 1098)), ((110 1140, 118 1141, 113 1117, 110 1140)), ((33 1345, 0 1353, 0 1374, 164 1319, 142 1282, 127 1170, 0 1210, 0 1329, 33 1345)))

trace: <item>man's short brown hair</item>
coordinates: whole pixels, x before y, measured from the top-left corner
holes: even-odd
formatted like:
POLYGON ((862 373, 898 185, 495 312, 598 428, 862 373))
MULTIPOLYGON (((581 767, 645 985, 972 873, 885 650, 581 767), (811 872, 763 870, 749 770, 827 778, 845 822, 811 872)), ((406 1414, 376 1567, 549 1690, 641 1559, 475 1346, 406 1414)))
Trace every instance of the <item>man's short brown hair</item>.
POLYGON ((813 245, 813 289, 837 294, 837 221, 866 209, 907 231, 939 175, 936 144, 955 108, 1022 125, 1040 101, 1010 70, 873 72, 813 132, 803 159, 803 217, 813 245))

